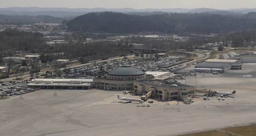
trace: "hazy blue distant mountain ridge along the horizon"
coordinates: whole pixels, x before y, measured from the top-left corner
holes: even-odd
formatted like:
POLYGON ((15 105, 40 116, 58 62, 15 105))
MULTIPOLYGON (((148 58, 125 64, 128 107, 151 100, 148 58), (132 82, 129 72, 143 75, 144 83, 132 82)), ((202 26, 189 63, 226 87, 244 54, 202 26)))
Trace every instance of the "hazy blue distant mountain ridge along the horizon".
MULTIPOLYGON (((167 9, 132 9, 132 8, 40 8, 40 7, 9 7, 9 8, 0 8, 0 14, 4 15, 48 15, 54 17, 72 17, 72 16, 80 16, 89 12, 97 12, 97 11, 112 11, 112 12, 121 12, 121 13, 138 13, 138 12, 177 12, 177 13, 218 13, 218 14, 229 14, 228 12, 232 12, 232 14, 236 15, 244 15, 249 12, 256 12, 256 8, 241 8, 241 9, 229 9, 229 10, 218 10, 218 9, 209 9, 209 8, 195 8, 195 9, 184 9, 184 8, 167 8, 167 9), (241 14, 242 13, 242 14, 241 14)), ((143 14, 140 14, 143 15, 143 14)))

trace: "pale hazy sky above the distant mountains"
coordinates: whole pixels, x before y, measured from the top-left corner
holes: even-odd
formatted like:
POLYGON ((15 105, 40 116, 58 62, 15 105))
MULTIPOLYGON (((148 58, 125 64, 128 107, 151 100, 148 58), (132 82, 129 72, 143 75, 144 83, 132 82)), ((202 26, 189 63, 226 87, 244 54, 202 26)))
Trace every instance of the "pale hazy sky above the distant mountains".
POLYGON ((67 8, 256 8, 256 0, 1 0, 7 7, 67 7, 67 8))

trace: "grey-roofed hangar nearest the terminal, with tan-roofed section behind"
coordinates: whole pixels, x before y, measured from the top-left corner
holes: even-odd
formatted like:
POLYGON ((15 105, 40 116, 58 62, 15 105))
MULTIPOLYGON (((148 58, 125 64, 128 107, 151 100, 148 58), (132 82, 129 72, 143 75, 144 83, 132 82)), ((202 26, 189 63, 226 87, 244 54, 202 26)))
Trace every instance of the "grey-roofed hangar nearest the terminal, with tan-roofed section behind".
POLYGON ((242 69, 241 60, 228 60, 228 59, 208 59, 204 63, 198 63, 194 67, 196 72, 219 72, 224 73, 228 70, 240 70, 242 69))

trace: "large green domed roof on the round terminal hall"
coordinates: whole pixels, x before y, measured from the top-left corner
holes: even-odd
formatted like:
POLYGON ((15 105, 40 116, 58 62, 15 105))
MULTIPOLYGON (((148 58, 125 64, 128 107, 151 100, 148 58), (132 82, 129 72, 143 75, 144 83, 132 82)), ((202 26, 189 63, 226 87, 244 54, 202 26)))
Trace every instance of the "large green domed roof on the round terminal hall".
POLYGON ((130 65, 122 65, 121 67, 115 68, 108 72, 108 75, 112 76, 135 76, 135 75, 143 75, 145 72, 141 71, 138 68, 131 67, 130 65))

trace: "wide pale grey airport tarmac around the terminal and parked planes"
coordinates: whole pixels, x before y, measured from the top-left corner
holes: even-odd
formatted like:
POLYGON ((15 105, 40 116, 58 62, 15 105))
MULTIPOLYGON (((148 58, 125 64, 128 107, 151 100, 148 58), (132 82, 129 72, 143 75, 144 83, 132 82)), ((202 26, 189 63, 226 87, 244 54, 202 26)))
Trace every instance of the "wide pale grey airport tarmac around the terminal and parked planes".
MULTIPOLYGON (((254 65, 245 70, 212 75, 198 73, 197 88, 238 90, 236 95, 192 104, 157 101, 122 103, 111 90, 39 90, 0 101, 1 136, 100 136, 100 135, 181 135, 256 123, 254 65), (226 77, 229 75, 229 77, 226 77), (252 75, 252 76, 244 76, 252 75), (201 77, 200 77, 201 76, 201 77)), ((185 69, 186 70, 186 69, 185 69)), ((195 85, 195 77, 186 77, 195 85)), ((182 83, 185 83, 182 80, 182 83)))

